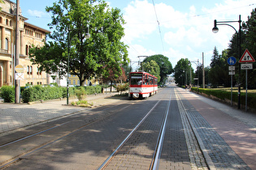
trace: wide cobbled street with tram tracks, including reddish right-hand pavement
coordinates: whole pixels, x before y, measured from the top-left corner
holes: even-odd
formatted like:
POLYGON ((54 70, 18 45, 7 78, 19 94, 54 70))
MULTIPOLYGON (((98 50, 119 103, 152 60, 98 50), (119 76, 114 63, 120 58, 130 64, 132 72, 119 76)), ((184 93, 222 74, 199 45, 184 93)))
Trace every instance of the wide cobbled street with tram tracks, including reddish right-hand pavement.
POLYGON ((171 85, 146 100, 121 100, 7 134, 1 168, 254 169, 254 130, 222 114, 171 85))

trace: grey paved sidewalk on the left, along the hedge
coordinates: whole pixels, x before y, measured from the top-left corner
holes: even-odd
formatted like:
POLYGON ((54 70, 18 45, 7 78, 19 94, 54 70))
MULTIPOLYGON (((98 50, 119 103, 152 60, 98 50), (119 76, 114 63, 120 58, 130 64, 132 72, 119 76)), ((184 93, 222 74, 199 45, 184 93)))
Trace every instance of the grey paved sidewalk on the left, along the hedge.
MULTIPOLYGON (((117 92, 108 92, 104 94, 89 95, 86 97, 93 106, 105 104, 109 100, 102 100, 106 97, 115 96, 117 92)), ((76 99, 69 99, 69 104, 76 99)), ((67 100, 49 100, 34 102, 33 104, 7 104, 0 103, 0 136, 10 130, 40 123, 41 121, 50 121, 58 117, 63 117, 70 113, 80 112, 83 107, 67 106, 67 100)))

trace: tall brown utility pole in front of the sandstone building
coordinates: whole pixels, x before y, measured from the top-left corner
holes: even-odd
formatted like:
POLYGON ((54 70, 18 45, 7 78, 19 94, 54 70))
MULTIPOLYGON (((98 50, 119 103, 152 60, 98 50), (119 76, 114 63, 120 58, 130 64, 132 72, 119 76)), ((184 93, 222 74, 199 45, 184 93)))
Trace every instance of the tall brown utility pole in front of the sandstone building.
MULTIPOLYGON (((20 64, 20 0, 16 0, 15 66, 20 64)), ((20 80, 15 79, 15 104, 20 103, 20 80)))

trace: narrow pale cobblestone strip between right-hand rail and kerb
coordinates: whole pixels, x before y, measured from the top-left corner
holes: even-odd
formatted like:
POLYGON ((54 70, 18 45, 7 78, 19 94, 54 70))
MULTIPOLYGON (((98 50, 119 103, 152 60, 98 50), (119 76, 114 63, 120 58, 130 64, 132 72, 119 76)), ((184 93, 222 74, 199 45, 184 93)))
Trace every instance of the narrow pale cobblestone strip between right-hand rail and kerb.
MULTIPOLYGON (((176 98, 178 99, 179 96, 176 94, 176 98)), ((186 117, 186 112, 184 110, 183 104, 181 100, 178 100, 178 107, 180 110, 180 117, 182 119, 182 124, 184 126, 184 135, 186 138, 188 150, 189 150, 189 159, 192 169, 208 169, 206 164, 206 159, 202 155, 202 151, 198 145, 197 138, 193 134, 193 130, 189 125, 189 120, 186 117)), ((211 168, 212 169, 212 168, 211 168)))

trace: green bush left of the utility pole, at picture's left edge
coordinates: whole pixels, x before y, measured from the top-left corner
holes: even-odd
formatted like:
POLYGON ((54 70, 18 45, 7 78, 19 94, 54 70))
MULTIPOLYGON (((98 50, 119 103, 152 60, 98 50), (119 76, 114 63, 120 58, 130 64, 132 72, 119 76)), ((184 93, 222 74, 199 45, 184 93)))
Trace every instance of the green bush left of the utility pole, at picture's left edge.
POLYGON ((15 87, 12 86, 2 86, 0 88, 0 96, 6 103, 15 102, 15 87))

